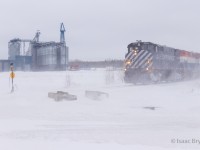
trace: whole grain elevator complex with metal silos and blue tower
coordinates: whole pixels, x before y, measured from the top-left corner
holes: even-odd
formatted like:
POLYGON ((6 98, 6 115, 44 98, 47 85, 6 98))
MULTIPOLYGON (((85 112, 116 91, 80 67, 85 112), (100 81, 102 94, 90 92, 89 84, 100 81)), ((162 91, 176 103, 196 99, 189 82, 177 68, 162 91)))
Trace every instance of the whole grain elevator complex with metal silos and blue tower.
POLYGON ((18 71, 63 71, 68 66, 68 47, 64 24, 60 26, 60 42, 40 42, 37 31, 33 40, 15 38, 8 43, 8 60, 0 60, 0 71, 8 71, 13 63, 18 71), (28 45, 28 49, 26 46, 28 45))

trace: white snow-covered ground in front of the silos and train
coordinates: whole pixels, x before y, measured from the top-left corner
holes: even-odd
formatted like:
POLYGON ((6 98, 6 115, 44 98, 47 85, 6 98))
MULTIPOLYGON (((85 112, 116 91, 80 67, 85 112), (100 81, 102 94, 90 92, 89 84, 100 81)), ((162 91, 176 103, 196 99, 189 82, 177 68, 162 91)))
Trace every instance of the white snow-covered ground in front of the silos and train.
POLYGON ((0 73, 0 150, 200 148, 200 80, 128 85, 104 69, 15 74, 11 94, 9 72, 0 73), (78 99, 48 98, 58 90, 78 99))

